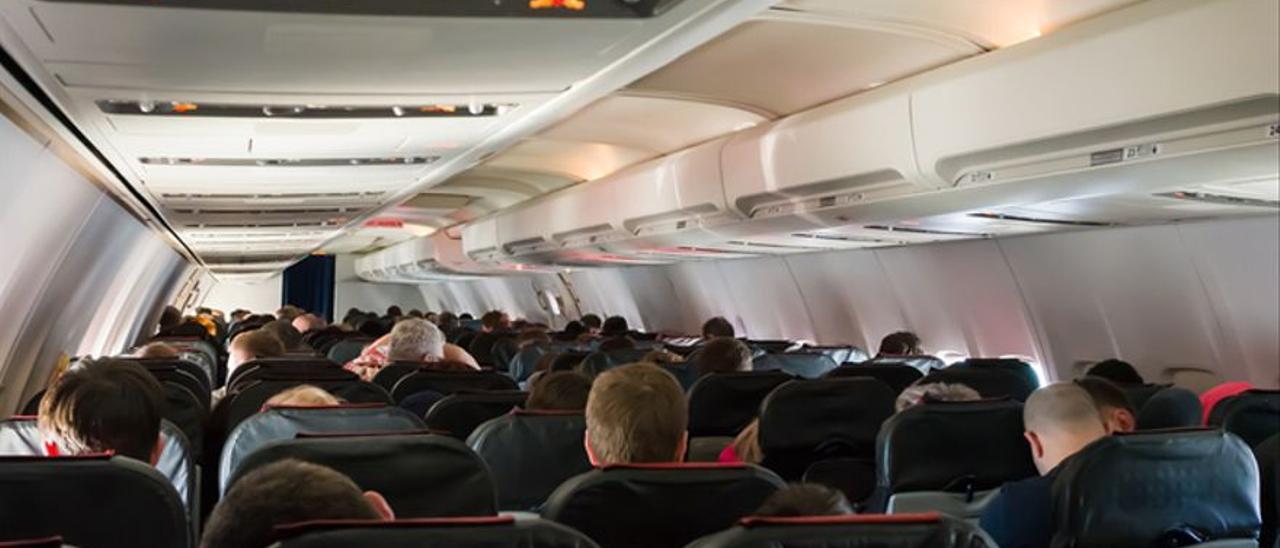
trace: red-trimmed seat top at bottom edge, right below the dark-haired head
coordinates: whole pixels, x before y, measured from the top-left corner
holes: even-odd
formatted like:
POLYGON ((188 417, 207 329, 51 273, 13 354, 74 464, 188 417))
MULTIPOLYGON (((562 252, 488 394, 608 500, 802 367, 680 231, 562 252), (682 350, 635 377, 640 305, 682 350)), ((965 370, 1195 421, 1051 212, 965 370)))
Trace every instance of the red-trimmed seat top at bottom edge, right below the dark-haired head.
POLYGON ((279 548, 595 548, 570 528, 540 519, 438 517, 396 521, 308 521, 276 528, 279 548))

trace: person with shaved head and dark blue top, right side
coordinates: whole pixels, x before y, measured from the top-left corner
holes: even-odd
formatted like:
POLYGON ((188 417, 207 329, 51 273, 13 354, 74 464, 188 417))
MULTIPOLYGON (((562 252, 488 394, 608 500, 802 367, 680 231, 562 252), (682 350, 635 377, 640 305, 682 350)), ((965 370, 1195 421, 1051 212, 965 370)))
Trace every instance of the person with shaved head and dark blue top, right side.
POLYGON ((982 513, 980 525, 1001 548, 1042 548, 1053 536, 1051 488, 1059 465, 1107 435, 1089 393, 1075 383, 1050 384, 1023 407, 1027 443, 1038 478, 1005 484, 982 513))

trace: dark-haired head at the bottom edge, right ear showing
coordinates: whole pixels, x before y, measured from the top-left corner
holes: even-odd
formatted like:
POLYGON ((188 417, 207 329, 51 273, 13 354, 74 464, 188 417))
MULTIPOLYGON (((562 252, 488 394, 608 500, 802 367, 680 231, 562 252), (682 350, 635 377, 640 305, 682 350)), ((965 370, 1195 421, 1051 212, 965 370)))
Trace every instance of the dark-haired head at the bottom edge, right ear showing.
POLYGON ((205 525, 201 548, 264 548, 279 525, 312 520, 392 520, 387 501, 361 493, 333 469, 296 460, 253 470, 232 485, 205 525))

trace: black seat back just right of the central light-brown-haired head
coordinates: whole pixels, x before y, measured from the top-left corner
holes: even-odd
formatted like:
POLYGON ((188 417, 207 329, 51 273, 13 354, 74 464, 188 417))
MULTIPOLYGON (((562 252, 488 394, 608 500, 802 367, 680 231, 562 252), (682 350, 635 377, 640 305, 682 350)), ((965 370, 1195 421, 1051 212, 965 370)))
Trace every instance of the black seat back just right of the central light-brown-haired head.
POLYGON ((760 408, 764 465, 799 479, 813 462, 870 457, 881 423, 893 414, 893 391, 874 379, 792 380, 760 408))

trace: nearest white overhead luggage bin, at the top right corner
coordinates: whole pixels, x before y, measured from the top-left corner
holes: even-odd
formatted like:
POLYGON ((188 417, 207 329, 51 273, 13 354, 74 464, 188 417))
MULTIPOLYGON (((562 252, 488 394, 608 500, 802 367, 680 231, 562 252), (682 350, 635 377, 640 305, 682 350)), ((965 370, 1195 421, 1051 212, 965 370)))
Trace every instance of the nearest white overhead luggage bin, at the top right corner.
POLYGON ((1268 0, 1140 3, 916 78, 923 175, 1005 204, 1274 179, 1277 19, 1268 0))

